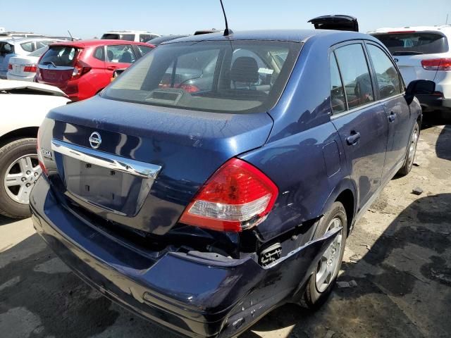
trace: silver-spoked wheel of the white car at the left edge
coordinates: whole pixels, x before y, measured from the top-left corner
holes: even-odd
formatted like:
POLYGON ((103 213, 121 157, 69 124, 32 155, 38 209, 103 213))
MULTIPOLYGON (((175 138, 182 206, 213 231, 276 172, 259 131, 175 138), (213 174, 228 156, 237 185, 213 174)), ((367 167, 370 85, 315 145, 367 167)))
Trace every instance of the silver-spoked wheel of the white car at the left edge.
POLYGON ((35 138, 16 139, 0 148, 0 214, 30 216, 28 199, 41 168, 35 138))

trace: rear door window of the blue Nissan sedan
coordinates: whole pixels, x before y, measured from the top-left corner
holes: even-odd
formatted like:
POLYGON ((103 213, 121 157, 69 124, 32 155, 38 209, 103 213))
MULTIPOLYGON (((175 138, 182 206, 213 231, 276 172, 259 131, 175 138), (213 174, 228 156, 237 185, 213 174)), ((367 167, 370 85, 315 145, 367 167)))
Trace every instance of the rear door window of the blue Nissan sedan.
POLYGON ((345 84, 347 106, 355 108, 374 101, 368 63, 362 44, 335 49, 338 67, 345 84))

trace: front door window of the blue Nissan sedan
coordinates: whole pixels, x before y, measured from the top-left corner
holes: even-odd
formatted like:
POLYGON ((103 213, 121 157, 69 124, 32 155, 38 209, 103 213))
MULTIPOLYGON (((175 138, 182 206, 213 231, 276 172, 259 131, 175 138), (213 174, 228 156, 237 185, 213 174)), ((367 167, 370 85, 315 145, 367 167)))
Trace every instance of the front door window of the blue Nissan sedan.
POLYGON ((367 44, 369 56, 376 71, 376 85, 381 99, 401 93, 400 76, 387 54, 378 46, 367 44))

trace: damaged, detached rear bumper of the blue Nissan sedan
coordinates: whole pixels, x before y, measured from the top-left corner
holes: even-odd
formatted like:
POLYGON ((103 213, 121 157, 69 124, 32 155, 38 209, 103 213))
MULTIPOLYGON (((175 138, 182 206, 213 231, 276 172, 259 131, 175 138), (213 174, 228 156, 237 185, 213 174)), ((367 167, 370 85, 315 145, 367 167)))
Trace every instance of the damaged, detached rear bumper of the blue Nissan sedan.
POLYGON ((142 251, 85 223, 40 177, 32 220, 82 280, 128 310, 187 337, 232 337, 296 292, 338 232, 262 268, 252 257, 212 261, 177 249, 142 251))

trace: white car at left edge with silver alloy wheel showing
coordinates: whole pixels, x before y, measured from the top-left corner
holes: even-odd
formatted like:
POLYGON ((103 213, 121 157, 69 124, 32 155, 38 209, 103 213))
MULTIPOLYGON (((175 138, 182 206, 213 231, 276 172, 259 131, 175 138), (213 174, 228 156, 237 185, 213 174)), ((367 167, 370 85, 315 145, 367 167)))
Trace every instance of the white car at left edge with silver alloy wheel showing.
POLYGON ((41 173, 37 130, 47 112, 70 100, 47 84, 0 80, 0 214, 30 215, 28 196, 41 173))

